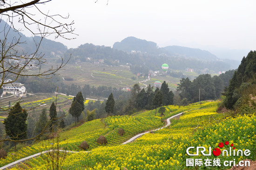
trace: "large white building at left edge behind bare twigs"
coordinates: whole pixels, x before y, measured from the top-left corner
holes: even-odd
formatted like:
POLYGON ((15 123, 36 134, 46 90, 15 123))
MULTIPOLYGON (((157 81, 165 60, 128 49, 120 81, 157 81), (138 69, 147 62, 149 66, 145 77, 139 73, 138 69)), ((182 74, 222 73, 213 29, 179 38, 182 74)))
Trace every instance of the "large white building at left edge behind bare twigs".
POLYGON ((23 94, 26 92, 26 87, 21 83, 8 83, 11 82, 11 79, 4 81, 7 84, 3 85, 3 93, 12 93, 12 94, 23 94))

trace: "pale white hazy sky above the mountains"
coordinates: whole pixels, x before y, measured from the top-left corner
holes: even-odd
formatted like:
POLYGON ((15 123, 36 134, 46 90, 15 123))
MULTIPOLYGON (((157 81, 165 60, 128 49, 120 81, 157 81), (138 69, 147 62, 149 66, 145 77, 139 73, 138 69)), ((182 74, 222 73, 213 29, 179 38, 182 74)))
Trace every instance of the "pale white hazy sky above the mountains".
POLYGON ((216 46, 256 50, 256 0, 52 0, 50 13, 74 20, 74 40, 113 46, 128 36, 158 46, 216 46), (107 5, 108 1, 108 5, 107 5))

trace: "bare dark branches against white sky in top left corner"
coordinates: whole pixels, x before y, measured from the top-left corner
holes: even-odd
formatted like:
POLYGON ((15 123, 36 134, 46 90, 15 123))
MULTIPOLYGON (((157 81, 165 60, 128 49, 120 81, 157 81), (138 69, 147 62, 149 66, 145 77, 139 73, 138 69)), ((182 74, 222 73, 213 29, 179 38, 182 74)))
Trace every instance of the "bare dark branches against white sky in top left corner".
POLYGON ((74 20, 69 23, 61 22, 61 19, 67 20, 67 17, 63 17, 60 14, 51 15, 48 12, 42 12, 39 5, 45 5, 51 0, 20 0, 12 3, 0 1, 0 14, 7 16, 11 22, 12 27, 16 28, 16 24, 13 24, 13 19, 17 18, 19 23, 22 23, 24 27, 33 33, 34 35, 40 35, 41 37, 47 37, 55 34, 55 38, 62 37, 64 39, 74 39, 74 37, 67 37, 69 34, 77 35, 74 33, 74 20), (16 5, 18 3, 18 5, 16 5), (27 9, 33 8, 36 12, 29 13, 27 9), (37 27, 37 30, 34 28, 37 27), (42 28, 43 27, 43 28, 42 28))

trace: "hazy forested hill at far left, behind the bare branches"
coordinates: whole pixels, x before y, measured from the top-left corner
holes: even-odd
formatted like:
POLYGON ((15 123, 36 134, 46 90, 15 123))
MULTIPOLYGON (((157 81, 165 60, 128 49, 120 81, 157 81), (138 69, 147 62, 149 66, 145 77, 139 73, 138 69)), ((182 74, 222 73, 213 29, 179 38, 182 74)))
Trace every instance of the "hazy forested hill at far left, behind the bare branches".
MULTIPOLYGON (((34 36, 33 38, 33 37, 26 37, 24 34, 20 32, 18 33, 13 28, 10 28, 10 26, 4 20, 0 20, 0 32, 1 31, 5 32, 8 42, 20 39, 20 44, 18 44, 17 48, 19 48, 20 51, 24 51, 25 53, 35 52, 35 49, 36 49, 35 42, 38 44, 41 39, 41 37, 39 36, 34 36)), ((1 33, 0 39, 5 39, 5 34, 1 33)), ((60 42, 56 42, 46 38, 42 40, 39 48, 39 53, 40 52, 44 53, 46 58, 53 57, 52 56, 53 54, 61 55, 66 51, 67 51, 67 46, 63 45, 60 42)))

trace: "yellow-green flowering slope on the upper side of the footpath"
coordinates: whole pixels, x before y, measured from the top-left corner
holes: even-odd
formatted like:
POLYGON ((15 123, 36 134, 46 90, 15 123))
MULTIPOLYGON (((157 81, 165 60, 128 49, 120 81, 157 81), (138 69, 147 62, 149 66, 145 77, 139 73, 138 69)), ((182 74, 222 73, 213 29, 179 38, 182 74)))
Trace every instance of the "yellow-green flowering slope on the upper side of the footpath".
MULTIPOLYGON (((170 117, 178 112, 184 111, 187 108, 178 106, 169 106, 168 111, 174 111, 172 113, 166 112, 166 117, 170 117)), ((146 111, 140 113, 141 116, 114 116, 105 119, 96 119, 91 122, 87 122, 77 128, 69 131, 62 132, 60 134, 61 147, 67 146, 68 150, 80 151, 78 148, 82 141, 86 140, 90 145, 90 150, 99 146, 95 141, 100 135, 106 136, 108 140, 107 146, 119 145, 130 137, 135 136, 143 131, 155 129, 161 127, 163 123, 160 117, 155 117, 155 111, 146 111), (125 135, 120 137, 117 135, 119 128, 125 130, 125 135)), ((27 148, 23 148, 18 153, 9 153, 7 159, 0 161, 0 166, 7 163, 11 163, 22 157, 30 156, 34 153, 46 150, 45 145, 49 145, 51 141, 44 141, 38 144, 34 144, 29 148, 30 152, 27 152, 27 148), (43 146, 44 145, 44 146, 43 146)))

